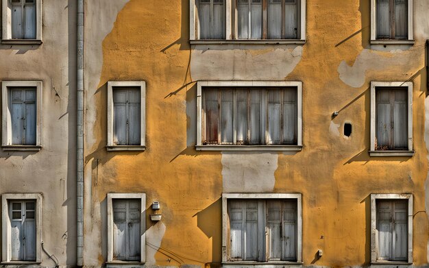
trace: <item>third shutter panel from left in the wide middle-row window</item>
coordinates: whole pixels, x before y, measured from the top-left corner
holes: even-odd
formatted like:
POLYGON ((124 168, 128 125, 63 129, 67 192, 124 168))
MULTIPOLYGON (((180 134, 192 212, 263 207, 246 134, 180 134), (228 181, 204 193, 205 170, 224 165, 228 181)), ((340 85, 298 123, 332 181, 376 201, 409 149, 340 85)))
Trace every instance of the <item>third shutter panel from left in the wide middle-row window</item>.
POLYGON ((247 98, 246 89, 236 90, 236 143, 247 144, 247 98))

